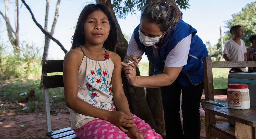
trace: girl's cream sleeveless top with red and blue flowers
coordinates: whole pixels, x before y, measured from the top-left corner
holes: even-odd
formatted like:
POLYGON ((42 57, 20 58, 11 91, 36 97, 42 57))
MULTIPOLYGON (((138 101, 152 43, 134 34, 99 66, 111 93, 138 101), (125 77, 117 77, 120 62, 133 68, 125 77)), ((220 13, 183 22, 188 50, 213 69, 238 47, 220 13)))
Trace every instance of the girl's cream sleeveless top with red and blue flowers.
MULTIPOLYGON (((80 46, 83 51, 82 47, 80 46)), ((105 49, 105 48, 104 48, 105 49)), ((114 70, 114 63, 109 58, 105 49, 106 56, 104 60, 94 60, 87 57, 84 53, 82 63, 78 69, 78 98, 90 105, 115 111, 116 106, 113 101, 111 87, 111 77, 114 70)), ((71 129, 77 129, 93 121, 96 118, 82 115, 69 109, 71 117, 71 129)))

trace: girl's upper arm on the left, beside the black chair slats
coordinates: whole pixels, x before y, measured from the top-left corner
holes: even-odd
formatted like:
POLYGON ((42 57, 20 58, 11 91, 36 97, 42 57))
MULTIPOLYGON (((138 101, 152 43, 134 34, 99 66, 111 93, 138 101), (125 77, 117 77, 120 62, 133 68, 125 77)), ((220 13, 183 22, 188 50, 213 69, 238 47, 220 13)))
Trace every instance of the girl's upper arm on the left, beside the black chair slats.
POLYGON ((77 74, 80 66, 78 58, 79 54, 76 50, 69 51, 64 57, 63 63, 63 82, 64 82, 64 94, 66 102, 77 97, 77 74))

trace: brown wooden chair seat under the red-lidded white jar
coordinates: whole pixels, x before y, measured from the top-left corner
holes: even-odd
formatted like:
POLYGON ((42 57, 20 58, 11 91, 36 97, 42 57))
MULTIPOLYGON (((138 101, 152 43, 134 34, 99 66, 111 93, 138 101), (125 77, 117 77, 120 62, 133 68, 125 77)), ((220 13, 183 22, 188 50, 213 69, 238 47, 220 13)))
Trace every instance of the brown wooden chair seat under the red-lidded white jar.
POLYGON ((222 103, 225 106, 218 106, 212 103, 205 102, 205 99, 201 99, 201 105, 205 112, 215 114, 227 119, 234 120, 236 122, 256 127, 256 108, 250 108, 247 110, 235 110, 229 109, 227 101, 215 100, 222 103))

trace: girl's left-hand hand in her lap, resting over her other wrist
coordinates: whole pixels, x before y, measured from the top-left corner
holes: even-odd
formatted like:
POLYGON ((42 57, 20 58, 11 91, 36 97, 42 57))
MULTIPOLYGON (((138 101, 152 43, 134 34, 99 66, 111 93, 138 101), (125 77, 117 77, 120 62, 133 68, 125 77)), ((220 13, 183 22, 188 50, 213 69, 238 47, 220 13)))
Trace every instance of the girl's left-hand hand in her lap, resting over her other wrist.
POLYGON ((128 116, 122 111, 110 111, 108 121, 124 132, 128 132, 128 130, 123 127, 135 127, 133 117, 128 116))

